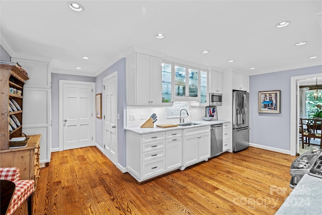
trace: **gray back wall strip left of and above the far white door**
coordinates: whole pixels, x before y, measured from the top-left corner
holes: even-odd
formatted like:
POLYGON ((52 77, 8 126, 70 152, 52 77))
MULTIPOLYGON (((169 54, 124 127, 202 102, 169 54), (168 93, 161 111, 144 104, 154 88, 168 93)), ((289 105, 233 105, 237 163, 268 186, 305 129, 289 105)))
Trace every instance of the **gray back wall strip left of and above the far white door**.
POLYGON ((95 77, 51 74, 51 148, 59 148, 59 80, 95 82, 95 77))

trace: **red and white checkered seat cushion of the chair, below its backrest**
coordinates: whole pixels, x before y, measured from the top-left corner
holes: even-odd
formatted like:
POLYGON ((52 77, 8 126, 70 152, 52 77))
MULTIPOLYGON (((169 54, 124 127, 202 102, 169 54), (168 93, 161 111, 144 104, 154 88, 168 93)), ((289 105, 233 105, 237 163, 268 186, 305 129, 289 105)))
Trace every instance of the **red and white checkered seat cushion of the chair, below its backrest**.
POLYGON ((16 191, 11 200, 7 215, 13 214, 16 209, 35 191, 35 181, 20 180, 15 181, 16 191))

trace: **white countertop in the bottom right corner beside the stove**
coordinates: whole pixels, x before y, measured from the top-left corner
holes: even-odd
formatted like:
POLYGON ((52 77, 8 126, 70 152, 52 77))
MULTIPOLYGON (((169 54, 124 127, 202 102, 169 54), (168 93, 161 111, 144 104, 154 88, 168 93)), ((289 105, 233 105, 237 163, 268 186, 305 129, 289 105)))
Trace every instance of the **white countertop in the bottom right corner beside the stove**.
POLYGON ((305 174, 275 214, 322 214, 322 178, 305 174))

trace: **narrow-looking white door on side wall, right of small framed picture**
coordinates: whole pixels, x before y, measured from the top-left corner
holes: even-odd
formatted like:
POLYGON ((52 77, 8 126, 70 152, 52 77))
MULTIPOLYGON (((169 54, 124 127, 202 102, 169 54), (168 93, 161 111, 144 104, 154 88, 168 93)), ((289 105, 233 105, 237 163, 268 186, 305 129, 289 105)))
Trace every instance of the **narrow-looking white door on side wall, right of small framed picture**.
POLYGON ((117 73, 104 78, 104 154, 117 165, 117 73))

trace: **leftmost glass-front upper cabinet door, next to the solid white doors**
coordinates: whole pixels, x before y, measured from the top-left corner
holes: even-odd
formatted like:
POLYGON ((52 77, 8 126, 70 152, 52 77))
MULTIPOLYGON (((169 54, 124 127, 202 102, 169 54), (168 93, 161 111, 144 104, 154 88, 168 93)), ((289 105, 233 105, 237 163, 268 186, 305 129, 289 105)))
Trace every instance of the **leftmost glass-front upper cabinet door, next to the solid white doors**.
POLYGON ((162 62, 162 103, 172 103, 172 67, 171 62, 162 62))

